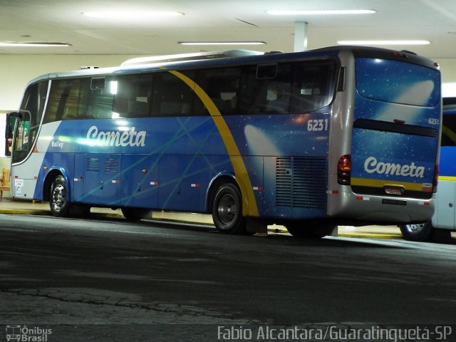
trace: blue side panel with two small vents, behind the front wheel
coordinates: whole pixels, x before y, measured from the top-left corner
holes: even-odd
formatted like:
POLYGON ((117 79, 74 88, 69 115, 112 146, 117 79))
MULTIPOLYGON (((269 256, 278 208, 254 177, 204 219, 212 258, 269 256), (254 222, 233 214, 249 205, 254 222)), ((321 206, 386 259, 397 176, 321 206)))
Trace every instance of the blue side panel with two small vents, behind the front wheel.
POLYGON ((120 155, 76 155, 74 202, 117 207, 120 202, 120 155))

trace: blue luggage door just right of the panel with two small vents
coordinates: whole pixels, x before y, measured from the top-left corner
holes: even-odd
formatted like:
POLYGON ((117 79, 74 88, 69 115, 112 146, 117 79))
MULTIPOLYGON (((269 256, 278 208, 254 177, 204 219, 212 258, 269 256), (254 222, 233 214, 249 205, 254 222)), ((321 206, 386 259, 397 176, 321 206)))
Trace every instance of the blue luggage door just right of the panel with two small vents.
POLYGON ((122 207, 158 207, 159 155, 122 155, 120 162, 120 205, 122 207))

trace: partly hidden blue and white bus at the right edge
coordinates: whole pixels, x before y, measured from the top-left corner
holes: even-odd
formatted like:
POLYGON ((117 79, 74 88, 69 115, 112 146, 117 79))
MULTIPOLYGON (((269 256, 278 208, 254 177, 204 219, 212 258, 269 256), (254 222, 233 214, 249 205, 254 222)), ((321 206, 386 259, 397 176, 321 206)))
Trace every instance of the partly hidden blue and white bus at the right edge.
POLYGON ((456 98, 443 98, 442 141, 435 213, 421 224, 402 224, 400 231, 410 241, 447 238, 456 231, 456 98))

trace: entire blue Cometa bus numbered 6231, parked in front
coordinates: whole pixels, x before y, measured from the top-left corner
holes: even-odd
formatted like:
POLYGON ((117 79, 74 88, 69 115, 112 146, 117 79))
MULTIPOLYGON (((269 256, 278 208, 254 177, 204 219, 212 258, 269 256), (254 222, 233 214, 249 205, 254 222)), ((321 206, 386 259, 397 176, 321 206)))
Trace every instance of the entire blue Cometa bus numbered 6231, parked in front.
POLYGON ((322 237, 434 212, 440 71, 405 51, 140 58, 38 77, 16 116, 12 195, 57 217, 199 212, 322 237))

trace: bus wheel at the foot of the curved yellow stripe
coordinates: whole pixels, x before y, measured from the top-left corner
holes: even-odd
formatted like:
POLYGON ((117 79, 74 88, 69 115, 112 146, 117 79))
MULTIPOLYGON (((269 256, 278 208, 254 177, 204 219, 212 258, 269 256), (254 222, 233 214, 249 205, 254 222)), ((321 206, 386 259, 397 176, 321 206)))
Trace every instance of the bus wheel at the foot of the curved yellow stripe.
POLYGON ((219 232, 245 234, 246 221, 242 216, 242 196, 236 185, 222 184, 212 202, 212 219, 219 232))

